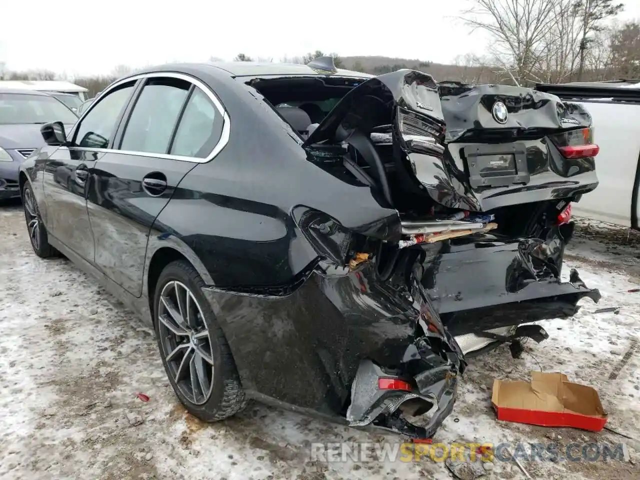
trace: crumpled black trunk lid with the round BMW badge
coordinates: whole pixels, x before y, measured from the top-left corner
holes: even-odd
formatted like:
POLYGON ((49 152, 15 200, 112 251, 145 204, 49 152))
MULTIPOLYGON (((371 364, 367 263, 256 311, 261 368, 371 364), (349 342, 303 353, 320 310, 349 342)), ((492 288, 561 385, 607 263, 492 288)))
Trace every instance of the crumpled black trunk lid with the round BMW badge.
POLYGON ((486 212, 595 189, 593 157, 567 158, 554 143, 554 136, 590 125, 582 106, 555 95, 504 85, 436 84, 428 74, 398 70, 351 90, 304 146, 355 144, 364 135, 390 146, 381 159, 384 173, 371 164, 371 176, 399 211, 398 194, 385 182, 444 207, 486 212), (381 178, 385 174, 395 180, 381 178))

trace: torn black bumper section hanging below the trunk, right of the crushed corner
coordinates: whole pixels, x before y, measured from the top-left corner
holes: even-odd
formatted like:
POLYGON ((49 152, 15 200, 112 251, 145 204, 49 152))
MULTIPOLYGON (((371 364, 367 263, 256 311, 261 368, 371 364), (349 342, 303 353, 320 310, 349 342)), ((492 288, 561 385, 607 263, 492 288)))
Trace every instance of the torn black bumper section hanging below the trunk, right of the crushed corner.
POLYGON ((486 235, 449 246, 428 259, 422 276, 433 305, 452 335, 575 315, 584 297, 598 302, 572 269, 562 282, 559 241, 486 235), (474 281, 470 281, 474 279, 474 281))

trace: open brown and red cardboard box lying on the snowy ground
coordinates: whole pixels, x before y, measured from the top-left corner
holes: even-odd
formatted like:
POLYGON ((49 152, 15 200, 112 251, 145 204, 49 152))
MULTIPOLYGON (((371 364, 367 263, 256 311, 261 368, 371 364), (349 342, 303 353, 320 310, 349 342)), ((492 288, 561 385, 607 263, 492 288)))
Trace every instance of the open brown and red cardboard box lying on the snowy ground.
POLYGON ((498 420, 508 422, 590 431, 607 423, 598 392, 562 373, 531 372, 531 383, 493 380, 491 401, 498 420))

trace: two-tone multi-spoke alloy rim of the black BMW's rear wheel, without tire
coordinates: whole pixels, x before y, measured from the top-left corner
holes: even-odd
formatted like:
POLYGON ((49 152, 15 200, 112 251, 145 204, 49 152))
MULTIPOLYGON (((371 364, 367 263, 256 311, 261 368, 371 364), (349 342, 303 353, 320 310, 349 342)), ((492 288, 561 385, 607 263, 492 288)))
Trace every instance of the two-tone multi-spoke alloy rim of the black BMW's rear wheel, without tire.
POLYGON ((189 402, 211 396, 214 364, 209 328, 189 288, 173 280, 164 285, 157 305, 159 338, 168 371, 189 402))

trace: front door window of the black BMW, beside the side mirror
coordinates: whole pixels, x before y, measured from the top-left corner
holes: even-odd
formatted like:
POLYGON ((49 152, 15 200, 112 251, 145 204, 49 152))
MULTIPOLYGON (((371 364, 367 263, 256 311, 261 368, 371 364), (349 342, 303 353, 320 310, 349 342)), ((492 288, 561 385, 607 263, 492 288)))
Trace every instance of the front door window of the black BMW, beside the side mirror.
POLYGON ((76 145, 84 148, 108 148, 115 135, 116 121, 133 92, 135 82, 109 92, 83 118, 76 129, 76 145))

